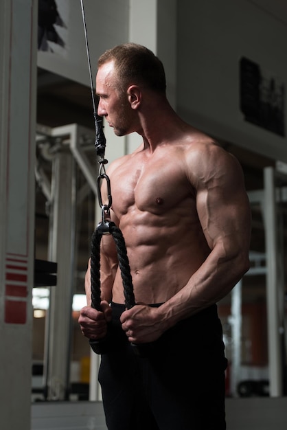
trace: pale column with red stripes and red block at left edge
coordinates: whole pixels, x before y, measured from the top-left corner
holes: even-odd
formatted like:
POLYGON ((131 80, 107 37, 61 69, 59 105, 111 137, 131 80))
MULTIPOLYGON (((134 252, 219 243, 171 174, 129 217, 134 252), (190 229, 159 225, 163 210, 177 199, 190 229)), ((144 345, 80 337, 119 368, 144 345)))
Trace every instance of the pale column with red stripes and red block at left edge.
POLYGON ((0 2, 0 417, 30 429, 36 0, 0 2))

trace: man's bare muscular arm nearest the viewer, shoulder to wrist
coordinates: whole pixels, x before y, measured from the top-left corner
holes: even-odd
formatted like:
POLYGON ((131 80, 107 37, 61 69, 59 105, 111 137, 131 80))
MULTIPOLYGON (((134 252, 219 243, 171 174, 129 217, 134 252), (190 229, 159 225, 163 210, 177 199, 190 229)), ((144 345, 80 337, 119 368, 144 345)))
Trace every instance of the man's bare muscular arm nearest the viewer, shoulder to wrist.
POLYGON ((211 252, 181 291, 161 306, 167 328, 225 297, 249 269, 251 210, 240 163, 214 146, 200 160, 196 177, 196 207, 211 252))

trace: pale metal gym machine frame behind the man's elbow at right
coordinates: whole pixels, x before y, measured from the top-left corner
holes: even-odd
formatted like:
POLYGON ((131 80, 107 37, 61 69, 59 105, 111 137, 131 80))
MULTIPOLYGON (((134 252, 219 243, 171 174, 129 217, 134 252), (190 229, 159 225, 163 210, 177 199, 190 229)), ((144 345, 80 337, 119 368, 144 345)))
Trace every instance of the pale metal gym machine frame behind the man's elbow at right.
MULTIPOLYGON (((279 163, 282 166, 282 163, 279 163)), ((287 201, 287 172, 264 168, 264 190, 249 192, 252 205, 260 205, 264 221, 266 250, 250 253, 251 269, 245 276, 266 275, 269 395, 284 394, 286 372, 286 329, 284 317, 284 210, 287 201), (263 265, 262 265, 263 262, 263 265)), ((286 229, 286 226, 285 226, 286 229)), ((231 332, 233 337, 231 395, 238 396, 242 331, 242 281, 231 291, 231 332)))

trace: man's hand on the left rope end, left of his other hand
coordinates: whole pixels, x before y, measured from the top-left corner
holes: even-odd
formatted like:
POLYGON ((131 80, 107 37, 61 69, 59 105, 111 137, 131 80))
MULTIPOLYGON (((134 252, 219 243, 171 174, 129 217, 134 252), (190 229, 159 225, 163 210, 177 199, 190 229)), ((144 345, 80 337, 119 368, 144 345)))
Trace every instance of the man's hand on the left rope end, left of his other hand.
POLYGON ((106 324, 111 321, 112 310, 108 302, 101 302, 102 311, 96 310, 91 306, 84 306, 80 310, 78 322, 82 334, 88 339, 102 339, 106 336, 106 324))

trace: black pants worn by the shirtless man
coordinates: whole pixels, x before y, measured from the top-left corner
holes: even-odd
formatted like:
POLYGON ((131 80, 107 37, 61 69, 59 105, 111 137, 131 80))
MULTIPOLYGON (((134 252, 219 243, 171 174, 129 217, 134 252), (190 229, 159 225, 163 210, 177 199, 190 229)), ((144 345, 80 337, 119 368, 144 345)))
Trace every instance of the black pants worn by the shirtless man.
POLYGON ((225 430, 227 360, 216 306, 176 324, 135 354, 112 304, 111 352, 99 382, 108 430, 225 430))

